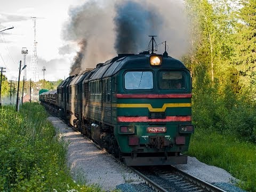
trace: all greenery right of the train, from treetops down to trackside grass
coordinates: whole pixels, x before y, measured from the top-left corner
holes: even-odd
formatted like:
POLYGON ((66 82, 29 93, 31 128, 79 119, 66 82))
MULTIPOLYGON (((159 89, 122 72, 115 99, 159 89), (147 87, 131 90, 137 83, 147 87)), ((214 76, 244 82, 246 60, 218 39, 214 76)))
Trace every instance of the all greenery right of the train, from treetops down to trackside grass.
POLYGON ((256 1, 235 3, 185 0, 190 50, 182 59, 193 77, 196 125, 189 154, 256 191, 256 1))

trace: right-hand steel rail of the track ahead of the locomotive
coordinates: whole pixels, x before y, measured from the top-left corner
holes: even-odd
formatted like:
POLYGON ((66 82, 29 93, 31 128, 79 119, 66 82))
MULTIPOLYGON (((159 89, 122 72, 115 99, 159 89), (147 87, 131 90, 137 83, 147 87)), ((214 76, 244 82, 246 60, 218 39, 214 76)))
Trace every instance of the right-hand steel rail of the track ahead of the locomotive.
POLYGON ((170 165, 172 167, 172 169, 174 169, 181 177, 189 180, 190 182, 195 183, 198 186, 201 186, 202 188, 208 190, 208 191, 213 191, 213 192, 226 192, 225 190, 222 190, 214 185, 211 185, 210 183, 207 183, 201 179, 198 179, 196 177, 194 177, 193 175, 186 173, 184 171, 181 171, 179 169, 177 169, 176 167, 170 165))

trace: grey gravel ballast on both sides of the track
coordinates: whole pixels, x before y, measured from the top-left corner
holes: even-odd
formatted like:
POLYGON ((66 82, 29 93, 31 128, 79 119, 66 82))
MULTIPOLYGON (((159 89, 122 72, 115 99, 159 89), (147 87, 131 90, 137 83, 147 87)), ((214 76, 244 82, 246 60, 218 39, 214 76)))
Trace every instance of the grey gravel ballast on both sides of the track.
MULTIPOLYGON (((81 133, 74 131, 58 117, 49 117, 48 120, 52 122, 60 137, 69 143, 67 162, 75 180, 83 178, 87 184, 99 185, 107 191, 116 188, 123 192, 149 191, 142 180, 131 173, 130 169, 119 164, 105 151, 97 148, 81 133)), ((215 184, 223 190, 242 191, 231 185, 231 181, 236 179, 227 171, 199 162, 195 157, 188 157, 188 164, 175 165, 175 167, 213 185, 215 184)))

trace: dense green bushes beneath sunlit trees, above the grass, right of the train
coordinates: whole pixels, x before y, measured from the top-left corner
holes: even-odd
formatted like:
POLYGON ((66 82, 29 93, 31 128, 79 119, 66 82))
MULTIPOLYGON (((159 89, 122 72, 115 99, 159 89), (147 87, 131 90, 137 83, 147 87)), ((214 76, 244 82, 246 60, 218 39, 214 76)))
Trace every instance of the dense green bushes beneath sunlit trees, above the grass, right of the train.
POLYGON ((238 97, 229 84, 203 82, 193 89, 194 125, 220 133, 230 131, 241 140, 256 143, 255 101, 246 94, 238 97))

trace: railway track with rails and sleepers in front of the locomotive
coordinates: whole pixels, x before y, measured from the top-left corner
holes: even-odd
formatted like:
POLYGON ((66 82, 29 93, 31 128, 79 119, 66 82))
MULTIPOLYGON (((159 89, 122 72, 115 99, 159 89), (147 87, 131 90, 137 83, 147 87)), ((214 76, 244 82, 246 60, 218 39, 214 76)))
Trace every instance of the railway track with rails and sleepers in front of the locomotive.
POLYGON ((218 187, 211 185, 186 172, 176 169, 173 166, 140 166, 130 167, 155 191, 193 191, 193 192, 225 192, 218 187))

